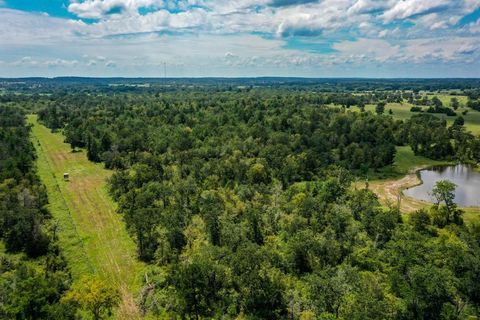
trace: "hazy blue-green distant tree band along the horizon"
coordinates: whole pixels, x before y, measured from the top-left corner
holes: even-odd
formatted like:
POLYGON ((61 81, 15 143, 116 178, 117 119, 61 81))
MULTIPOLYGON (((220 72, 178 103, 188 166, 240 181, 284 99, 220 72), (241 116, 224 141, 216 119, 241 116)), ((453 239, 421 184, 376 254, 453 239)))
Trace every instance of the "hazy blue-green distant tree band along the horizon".
MULTIPOLYGON (((476 90, 478 79, 353 79, 353 78, 21 78, 0 79, 0 88, 7 92, 65 94, 153 94, 159 91, 190 91, 192 88, 211 92, 243 90, 244 88, 281 88, 291 91, 366 92, 366 91, 440 91, 476 90)), ((2 95, 0 95, 1 101, 2 95)))

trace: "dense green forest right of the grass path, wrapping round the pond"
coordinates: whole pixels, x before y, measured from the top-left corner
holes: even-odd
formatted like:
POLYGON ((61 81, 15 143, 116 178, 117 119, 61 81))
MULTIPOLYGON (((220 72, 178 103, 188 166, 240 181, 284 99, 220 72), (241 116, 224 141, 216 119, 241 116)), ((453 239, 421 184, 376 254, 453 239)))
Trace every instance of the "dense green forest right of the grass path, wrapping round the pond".
MULTIPOLYGON (((398 92, 287 90, 24 98, 72 149, 115 170, 118 213, 159 318, 464 319, 480 312, 480 227, 454 186, 402 216, 352 182, 395 147, 480 160, 461 120, 384 112, 398 92), (350 100, 349 100, 350 99, 350 100), (376 104, 376 113, 362 110, 376 104), (338 105, 331 107, 329 104, 338 105), (360 108, 363 112, 351 111, 360 108)), ((420 100, 420 99, 417 99, 420 100)), ((435 99, 419 102, 435 108, 435 99)), ((440 110, 442 111, 442 110, 440 110)))

